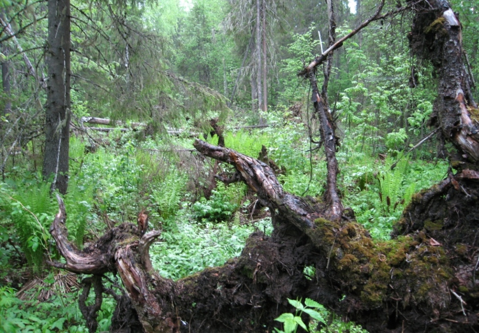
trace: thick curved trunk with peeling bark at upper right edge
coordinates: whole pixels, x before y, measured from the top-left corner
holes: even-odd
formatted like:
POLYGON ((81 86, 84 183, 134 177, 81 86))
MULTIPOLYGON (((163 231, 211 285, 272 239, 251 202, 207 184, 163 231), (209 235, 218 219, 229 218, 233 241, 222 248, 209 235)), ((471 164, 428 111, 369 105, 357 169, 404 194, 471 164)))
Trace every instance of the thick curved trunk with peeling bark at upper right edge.
POLYGON ((421 1, 409 35, 413 52, 430 61, 438 76, 431 124, 461 152, 461 162, 479 162, 478 109, 463 63, 461 24, 447 1, 421 1))

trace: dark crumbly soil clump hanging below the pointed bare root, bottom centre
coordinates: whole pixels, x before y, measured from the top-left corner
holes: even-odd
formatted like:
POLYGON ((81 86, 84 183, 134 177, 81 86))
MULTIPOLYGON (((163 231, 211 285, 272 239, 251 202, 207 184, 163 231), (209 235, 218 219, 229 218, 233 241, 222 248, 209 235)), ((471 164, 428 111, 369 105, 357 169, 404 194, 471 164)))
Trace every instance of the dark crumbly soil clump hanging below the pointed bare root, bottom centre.
POLYGON ((274 318, 291 312, 287 298, 308 289, 303 273, 307 237, 291 225, 279 225, 271 236, 254 232, 240 257, 177 282, 176 302, 181 332, 273 332, 274 318), (185 292, 186 291, 186 292, 185 292), (215 309, 214 320, 211 317, 215 309))

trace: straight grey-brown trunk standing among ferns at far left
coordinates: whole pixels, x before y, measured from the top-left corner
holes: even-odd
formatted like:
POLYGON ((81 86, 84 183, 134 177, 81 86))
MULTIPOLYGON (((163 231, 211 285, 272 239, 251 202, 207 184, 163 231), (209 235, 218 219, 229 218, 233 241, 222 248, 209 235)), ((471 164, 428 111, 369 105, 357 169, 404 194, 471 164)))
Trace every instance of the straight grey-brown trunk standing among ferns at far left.
POLYGON ((66 193, 70 133, 70 1, 48 0, 48 86, 43 176, 66 193))

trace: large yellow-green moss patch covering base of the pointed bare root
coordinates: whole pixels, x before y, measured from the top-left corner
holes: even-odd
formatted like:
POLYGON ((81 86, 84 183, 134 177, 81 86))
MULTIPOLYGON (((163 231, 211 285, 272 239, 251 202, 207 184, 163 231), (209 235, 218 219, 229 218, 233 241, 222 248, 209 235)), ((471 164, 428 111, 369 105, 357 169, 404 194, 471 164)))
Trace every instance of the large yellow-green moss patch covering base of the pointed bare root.
MULTIPOLYGON (((415 200, 422 200, 422 194, 416 194, 415 200)), ((341 225, 317 219, 315 225, 316 229, 307 232, 328 256, 329 269, 336 270, 344 287, 360 296, 370 309, 382 306, 390 294, 397 293, 414 295, 405 296, 404 307, 411 302, 443 302, 437 297, 442 294, 437 292, 438 288, 443 288, 454 275, 444 250, 430 246, 426 232, 373 242, 357 223, 341 225)), ((425 222, 427 231, 442 227, 440 220, 425 222)))

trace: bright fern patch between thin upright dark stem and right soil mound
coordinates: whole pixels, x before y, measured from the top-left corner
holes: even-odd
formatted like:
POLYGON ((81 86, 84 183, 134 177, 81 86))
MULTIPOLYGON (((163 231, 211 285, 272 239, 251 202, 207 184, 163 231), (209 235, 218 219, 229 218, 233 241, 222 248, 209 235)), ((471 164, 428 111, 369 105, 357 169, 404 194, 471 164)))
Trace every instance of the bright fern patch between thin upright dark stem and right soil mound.
POLYGON ((353 208, 357 221, 374 238, 389 239, 392 225, 414 192, 431 187, 447 170, 447 163, 442 161, 412 161, 405 157, 391 170, 396 161, 391 157, 380 162, 369 152, 361 152, 351 140, 343 142, 343 149, 338 153, 343 166, 339 182, 343 203, 353 208))

